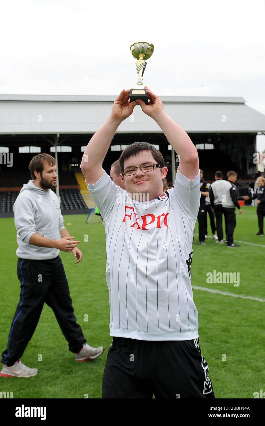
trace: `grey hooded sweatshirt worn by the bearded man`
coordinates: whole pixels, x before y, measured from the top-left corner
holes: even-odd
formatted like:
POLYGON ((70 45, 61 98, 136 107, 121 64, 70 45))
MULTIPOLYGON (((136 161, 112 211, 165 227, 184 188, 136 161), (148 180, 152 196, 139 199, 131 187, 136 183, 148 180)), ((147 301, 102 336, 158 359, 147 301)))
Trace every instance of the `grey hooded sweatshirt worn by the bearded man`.
POLYGON ((59 200, 52 190, 40 189, 33 182, 30 180, 23 185, 13 206, 18 244, 16 254, 22 259, 54 259, 60 250, 37 247, 29 244, 29 240, 35 233, 50 239, 61 238, 60 231, 65 227, 59 200))

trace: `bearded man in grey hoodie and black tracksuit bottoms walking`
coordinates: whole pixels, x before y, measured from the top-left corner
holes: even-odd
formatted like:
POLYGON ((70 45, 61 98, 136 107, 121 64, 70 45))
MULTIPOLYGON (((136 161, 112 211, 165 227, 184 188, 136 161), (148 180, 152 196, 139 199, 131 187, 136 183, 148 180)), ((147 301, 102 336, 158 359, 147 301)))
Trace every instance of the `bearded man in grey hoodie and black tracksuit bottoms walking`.
POLYGON ((55 159, 49 154, 35 155, 29 163, 32 180, 24 184, 14 206, 17 229, 17 276, 21 283, 20 302, 12 321, 7 349, 2 353, 4 363, 1 377, 31 377, 38 372, 21 361, 23 352, 37 327, 44 302, 50 306, 68 341, 75 360, 86 361, 99 357, 104 348, 86 344, 80 325, 76 322, 69 286, 59 257, 60 250, 72 251, 82 260, 77 248, 63 226, 63 216, 56 194, 55 159))

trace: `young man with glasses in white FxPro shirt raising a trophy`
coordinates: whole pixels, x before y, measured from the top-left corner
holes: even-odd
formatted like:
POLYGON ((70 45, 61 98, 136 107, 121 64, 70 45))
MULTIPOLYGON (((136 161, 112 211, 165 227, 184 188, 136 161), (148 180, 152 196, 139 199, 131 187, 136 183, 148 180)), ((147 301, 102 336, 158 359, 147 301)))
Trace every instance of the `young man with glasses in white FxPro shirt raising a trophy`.
POLYGON ((187 133, 147 89, 149 104, 122 90, 93 135, 81 170, 106 232, 110 335, 103 398, 214 398, 199 348, 191 287, 192 241, 200 203, 198 153, 187 133), (135 142, 119 161, 127 190, 102 168, 112 138, 135 105, 153 118, 180 157, 164 193, 161 153, 135 142), (140 168, 141 167, 141 168, 140 168))

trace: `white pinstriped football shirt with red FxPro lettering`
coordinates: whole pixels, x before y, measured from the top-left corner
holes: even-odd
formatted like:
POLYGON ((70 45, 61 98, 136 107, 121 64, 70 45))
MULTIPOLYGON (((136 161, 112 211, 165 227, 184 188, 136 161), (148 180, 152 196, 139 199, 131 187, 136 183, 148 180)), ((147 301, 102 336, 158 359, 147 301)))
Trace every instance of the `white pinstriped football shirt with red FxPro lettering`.
MULTIPOLYGON (((110 336, 138 340, 199 337, 191 262, 200 174, 158 198, 131 198, 109 175, 86 186, 104 221, 110 336)), ((133 194, 131 194, 133 195, 133 194)))

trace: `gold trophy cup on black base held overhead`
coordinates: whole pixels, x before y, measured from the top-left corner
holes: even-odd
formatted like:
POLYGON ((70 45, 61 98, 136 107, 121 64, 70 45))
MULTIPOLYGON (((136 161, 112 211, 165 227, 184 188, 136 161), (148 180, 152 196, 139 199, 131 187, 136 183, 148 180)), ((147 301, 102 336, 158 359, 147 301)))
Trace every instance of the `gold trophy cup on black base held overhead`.
POLYGON ((145 43, 144 41, 135 41, 131 46, 132 56, 136 61, 136 69, 138 74, 137 86, 134 89, 130 89, 130 101, 136 101, 136 99, 142 99, 146 104, 148 104, 148 98, 146 89, 144 89, 143 74, 146 68, 146 61, 144 59, 150 58, 153 51, 155 50, 153 44, 145 43))

